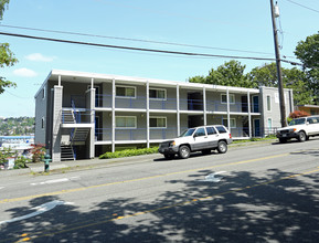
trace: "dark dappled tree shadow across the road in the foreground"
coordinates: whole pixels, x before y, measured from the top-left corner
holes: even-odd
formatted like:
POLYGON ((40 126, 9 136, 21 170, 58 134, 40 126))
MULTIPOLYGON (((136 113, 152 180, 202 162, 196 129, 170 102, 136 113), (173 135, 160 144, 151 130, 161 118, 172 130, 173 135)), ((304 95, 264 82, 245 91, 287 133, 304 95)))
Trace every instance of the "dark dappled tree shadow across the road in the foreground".
MULTIPOLYGON (((168 180, 167 186, 180 183, 182 189, 163 192, 148 202, 107 199, 84 213, 76 205, 56 207, 3 225, 0 242, 25 237, 31 237, 30 242, 318 241, 318 172, 291 177, 272 169, 263 176, 234 172, 219 183, 201 180, 211 172, 202 170, 185 180, 168 180)), ((10 213, 21 216, 53 200, 61 199, 36 198, 10 213)))

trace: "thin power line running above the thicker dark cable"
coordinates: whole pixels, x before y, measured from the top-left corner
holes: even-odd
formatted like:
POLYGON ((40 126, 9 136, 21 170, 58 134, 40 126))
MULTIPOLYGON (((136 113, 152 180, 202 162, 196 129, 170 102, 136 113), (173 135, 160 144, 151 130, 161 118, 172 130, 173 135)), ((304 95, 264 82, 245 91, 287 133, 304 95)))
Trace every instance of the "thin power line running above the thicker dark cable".
POLYGON ((71 31, 45 30, 45 29, 7 25, 7 24, 0 24, 0 25, 6 27, 6 28, 20 29, 20 30, 32 30, 32 31, 60 33, 60 34, 82 35, 82 36, 89 36, 89 38, 104 38, 104 39, 120 40, 120 41, 135 41, 135 42, 156 43, 156 44, 166 44, 166 45, 179 45, 179 46, 185 46, 185 47, 199 47, 199 49, 211 49, 211 50, 219 50, 219 51, 245 52, 245 53, 273 55, 273 53, 269 53, 269 52, 256 52, 256 51, 246 51, 246 50, 237 50, 237 49, 223 49, 223 47, 214 47, 214 46, 205 46, 205 45, 194 45, 194 44, 185 44, 185 43, 164 42, 164 41, 151 41, 151 40, 132 39, 132 38, 119 38, 119 36, 109 36, 109 35, 100 35, 100 34, 87 34, 87 33, 71 32, 71 31))

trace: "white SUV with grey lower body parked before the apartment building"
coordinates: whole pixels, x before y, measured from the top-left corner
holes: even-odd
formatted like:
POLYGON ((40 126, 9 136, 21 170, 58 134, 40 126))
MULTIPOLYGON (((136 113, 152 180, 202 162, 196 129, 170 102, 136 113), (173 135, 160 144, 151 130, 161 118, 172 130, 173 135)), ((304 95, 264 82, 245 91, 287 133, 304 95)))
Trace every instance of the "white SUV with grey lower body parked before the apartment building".
POLYGON ((159 152, 167 159, 172 159, 176 155, 187 159, 192 151, 210 154, 212 149, 224 154, 232 141, 232 135, 223 125, 200 126, 184 130, 178 138, 161 142, 159 152))

